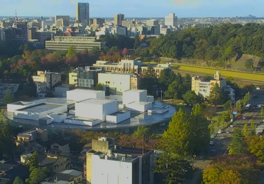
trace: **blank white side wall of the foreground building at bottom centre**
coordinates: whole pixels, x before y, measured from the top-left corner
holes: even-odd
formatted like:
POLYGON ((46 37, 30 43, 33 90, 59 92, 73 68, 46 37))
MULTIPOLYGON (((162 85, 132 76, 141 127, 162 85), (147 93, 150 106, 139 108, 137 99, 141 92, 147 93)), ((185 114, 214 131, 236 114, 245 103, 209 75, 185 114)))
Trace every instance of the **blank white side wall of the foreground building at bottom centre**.
POLYGON ((92 183, 132 184, 132 163, 92 155, 92 183))

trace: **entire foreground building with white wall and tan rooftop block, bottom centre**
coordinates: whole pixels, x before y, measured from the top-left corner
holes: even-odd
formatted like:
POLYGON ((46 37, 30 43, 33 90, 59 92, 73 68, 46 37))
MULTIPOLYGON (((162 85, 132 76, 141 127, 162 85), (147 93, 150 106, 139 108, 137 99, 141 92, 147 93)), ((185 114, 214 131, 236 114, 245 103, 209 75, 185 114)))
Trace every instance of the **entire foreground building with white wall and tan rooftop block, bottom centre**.
POLYGON ((92 149, 86 152, 86 183, 153 183, 153 153, 153 150, 117 146, 107 137, 93 140, 92 149))

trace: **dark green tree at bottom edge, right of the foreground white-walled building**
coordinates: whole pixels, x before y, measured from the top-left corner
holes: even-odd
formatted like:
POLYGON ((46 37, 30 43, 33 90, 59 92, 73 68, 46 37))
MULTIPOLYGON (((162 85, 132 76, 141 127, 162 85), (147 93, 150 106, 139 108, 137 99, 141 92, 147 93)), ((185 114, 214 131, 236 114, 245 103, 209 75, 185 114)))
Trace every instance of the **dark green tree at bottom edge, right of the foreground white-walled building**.
POLYGON ((159 155, 154 172, 162 174, 165 183, 183 183, 183 180, 191 175, 192 167, 186 160, 165 152, 159 155))

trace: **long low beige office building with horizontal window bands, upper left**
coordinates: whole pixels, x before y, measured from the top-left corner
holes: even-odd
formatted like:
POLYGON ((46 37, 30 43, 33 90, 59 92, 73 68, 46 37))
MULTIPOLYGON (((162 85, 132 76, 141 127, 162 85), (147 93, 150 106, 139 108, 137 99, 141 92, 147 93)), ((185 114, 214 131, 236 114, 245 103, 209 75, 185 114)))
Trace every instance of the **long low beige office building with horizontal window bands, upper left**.
POLYGON ((91 51, 93 47, 99 49, 105 47, 105 42, 97 41, 95 37, 69 37, 69 36, 55 36, 53 40, 46 41, 47 50, 67 51, 72 45, 77 52, 85 49, 91 51))

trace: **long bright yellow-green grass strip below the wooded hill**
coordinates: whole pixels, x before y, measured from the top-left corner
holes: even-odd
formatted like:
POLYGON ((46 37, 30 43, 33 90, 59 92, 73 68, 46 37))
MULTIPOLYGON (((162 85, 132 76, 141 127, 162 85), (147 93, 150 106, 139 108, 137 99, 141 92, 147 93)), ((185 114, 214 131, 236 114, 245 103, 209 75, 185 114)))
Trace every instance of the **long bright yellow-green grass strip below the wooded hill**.
POLYGON ((225 77, 233 77, 238 79, 246 79, 246 80, 255 80, 255 81, 264 81, 264 74, 256 74, 256 73, 246 73, 246 72, 236 72, 236 71, 226 71, 219 70, 214 68, 200 67, 200 66, 190 66, 186 64, 173 63, 171 66, 179 66, 180 71, 185 72, 194 72, 200 74, 208 74, 213 75, 216 71, 219 71, 222 76, 225 77))

